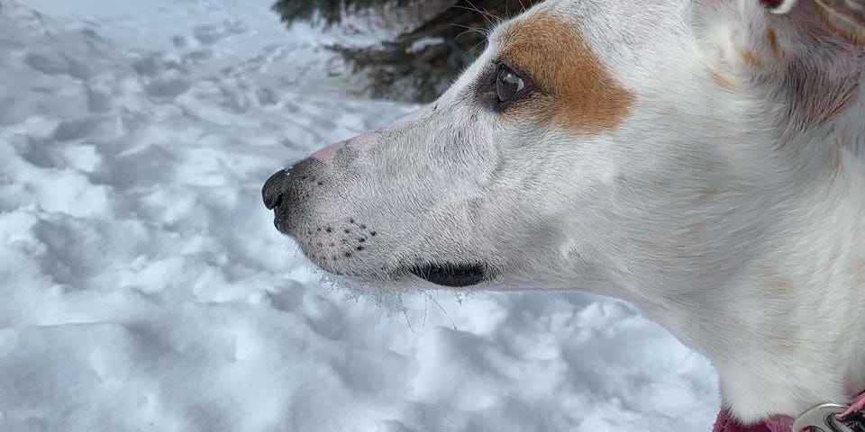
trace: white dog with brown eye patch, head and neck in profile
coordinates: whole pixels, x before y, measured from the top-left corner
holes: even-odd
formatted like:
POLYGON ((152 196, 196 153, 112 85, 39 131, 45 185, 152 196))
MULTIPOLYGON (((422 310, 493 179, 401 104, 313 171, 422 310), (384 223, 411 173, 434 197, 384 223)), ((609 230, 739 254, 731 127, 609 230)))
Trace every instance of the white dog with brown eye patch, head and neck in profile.
POLYGON ((632 302, 712 362, 742 425, 849 404, 865 37, 856 2, 815 2, 548 0, 438 100, 280 170, 264 201, 333 275, 632 302))

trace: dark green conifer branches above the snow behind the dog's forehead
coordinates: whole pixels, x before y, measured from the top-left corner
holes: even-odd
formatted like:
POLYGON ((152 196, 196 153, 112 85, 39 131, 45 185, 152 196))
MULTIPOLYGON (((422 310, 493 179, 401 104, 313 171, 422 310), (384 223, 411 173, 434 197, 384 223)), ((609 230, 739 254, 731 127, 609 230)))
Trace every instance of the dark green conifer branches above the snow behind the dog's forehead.
MULTIPOLYGON (((425 19, 412 30, 376 46, 331 46, 357 73, 369 76, 369 95, 429 102, 469 66, 484 47, 493 23, 519 14, 541 0, 277 0, 288 25, 300 21, 339 25, 349 14, 423 7, 425 19)), ((420 9, 417 9, 420 10, 420 9)))

